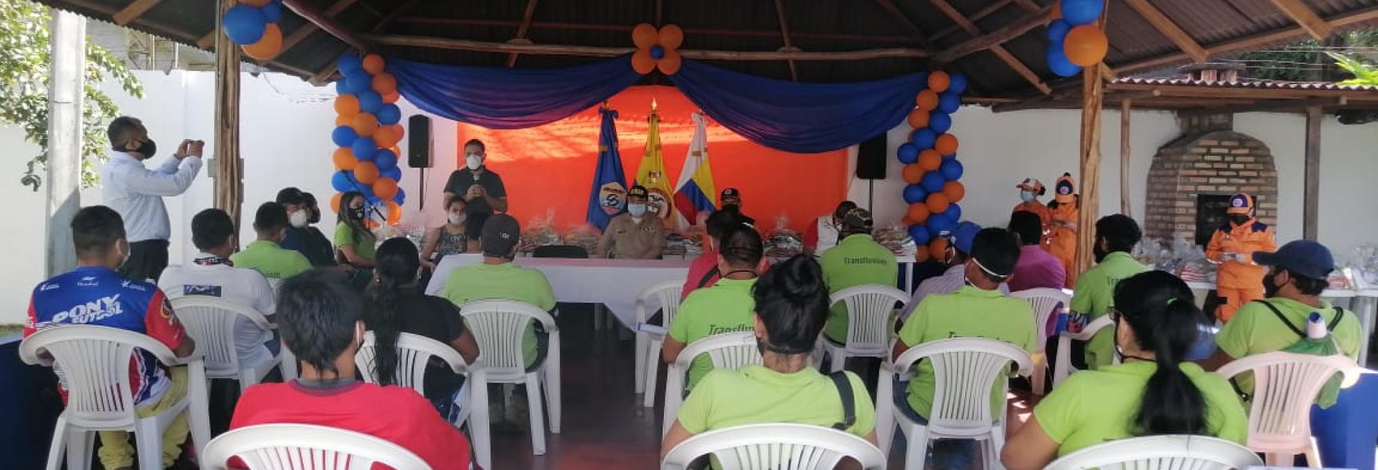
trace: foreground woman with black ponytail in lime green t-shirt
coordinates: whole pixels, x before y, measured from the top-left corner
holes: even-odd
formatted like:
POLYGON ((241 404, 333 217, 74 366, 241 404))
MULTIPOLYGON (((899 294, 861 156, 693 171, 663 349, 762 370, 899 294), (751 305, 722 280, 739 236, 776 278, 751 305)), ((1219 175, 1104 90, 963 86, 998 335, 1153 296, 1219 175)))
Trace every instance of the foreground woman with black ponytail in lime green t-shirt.
POLYGON ((1011 470, 1042 469, 1084 447, 1140 436, 1200 434, 1244 442, 1248 418, 1225 378, 1186 361, 1204 316, 1182 280, 1146 272, 1115 288, 1123 364, 1073 374, 1005 444, 1011 470))

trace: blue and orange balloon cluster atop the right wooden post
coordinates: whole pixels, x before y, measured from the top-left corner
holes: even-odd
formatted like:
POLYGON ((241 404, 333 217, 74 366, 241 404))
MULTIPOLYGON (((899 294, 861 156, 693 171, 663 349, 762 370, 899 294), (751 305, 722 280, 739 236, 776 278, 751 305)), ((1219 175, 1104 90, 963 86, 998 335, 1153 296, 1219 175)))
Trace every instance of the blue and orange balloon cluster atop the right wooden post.
POLYGON ((1109 51, 1109 39, 1096 28, 1105 10, 1104 0, 1061 0, 1053 7, 1047 25, 1047 68, 1061 77, 1071 77, 1082 68, 1096 66, 1109 51))

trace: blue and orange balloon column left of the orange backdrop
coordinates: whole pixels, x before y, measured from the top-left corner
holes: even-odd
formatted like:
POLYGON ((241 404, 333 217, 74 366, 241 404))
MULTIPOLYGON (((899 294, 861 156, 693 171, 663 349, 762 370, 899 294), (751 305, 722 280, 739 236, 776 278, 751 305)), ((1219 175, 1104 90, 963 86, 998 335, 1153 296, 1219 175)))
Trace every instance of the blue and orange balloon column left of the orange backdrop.
POLYGON ((387 208, 387 223, 397 225, 402 216, 401 204, 407 201, 407 193, 397 186, 402 179, 397 143, 404 134, 398 124, 402 112, 397 108, 401 98, 397 79, 384 72, 383 58, 376 54, 362 58, 344 54, 338 66, 343 79, 335 81, 339 96, 335 98, 338 116, 331 139, 338 147, 331 185, 340 193, 364 193, 368 204, 387 208))

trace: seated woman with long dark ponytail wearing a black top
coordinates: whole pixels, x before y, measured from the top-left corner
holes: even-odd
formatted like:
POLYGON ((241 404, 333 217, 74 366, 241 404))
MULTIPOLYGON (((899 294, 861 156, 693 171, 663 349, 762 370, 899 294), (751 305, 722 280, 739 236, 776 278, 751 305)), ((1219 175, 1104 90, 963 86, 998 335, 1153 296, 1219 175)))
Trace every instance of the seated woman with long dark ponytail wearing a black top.
MULTIPOLYGON (((364 309, 364 328, 373 332, 376 342, 375 367, 379 385, 393 385, 397 371, 397 338, 400 334, 426 336, 449 345, 464 361, 478 357, 474 335, 464 329, 459 307, 445 298, 422 295, 416 288, 420 256, 416 245, 407 238, 391 238, 378 248, 373 283, 368 287, 364 309)), ((448 413, 453 394, 463 378, 433 358, 426 369, 426 400, 441 413, 448 413)))

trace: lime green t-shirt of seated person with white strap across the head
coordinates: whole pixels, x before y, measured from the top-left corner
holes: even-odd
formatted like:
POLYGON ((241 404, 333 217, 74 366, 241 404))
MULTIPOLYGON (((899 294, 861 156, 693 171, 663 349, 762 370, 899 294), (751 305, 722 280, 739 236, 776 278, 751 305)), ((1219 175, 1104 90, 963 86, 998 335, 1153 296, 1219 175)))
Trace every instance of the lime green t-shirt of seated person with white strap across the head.
MULTIPOLYGON (((831 251, 830 251, 831 252, 831 251)), ((900 340, 909 347, 951 338, 999 339, 1034 353, 1038 334, 1034 329, 1034 309, 1028 302, 963 285, 954 294, 934 294, 923 298, 909 321, 900 329, 900 340)), ((908 401, 919 416, 927 418, 933 408, 933 362, 919 361, 919 371, 909 380, 908 401)), ((1005 408, 1005 394, 999 380, 991 387, 991 409, 999 416, 1005 408)))

